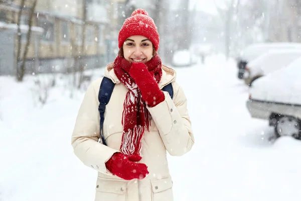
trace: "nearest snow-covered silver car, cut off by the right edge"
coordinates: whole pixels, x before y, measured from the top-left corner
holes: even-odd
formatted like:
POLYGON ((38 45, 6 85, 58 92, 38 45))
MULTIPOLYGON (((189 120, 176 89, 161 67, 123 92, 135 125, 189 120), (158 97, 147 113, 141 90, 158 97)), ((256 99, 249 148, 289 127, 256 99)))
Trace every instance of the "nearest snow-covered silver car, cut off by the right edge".
POLYGON ((301 139, 301 58, 254 81, 247 108, 251 117, 265 119, 275 134, 301 139))

